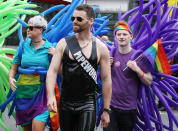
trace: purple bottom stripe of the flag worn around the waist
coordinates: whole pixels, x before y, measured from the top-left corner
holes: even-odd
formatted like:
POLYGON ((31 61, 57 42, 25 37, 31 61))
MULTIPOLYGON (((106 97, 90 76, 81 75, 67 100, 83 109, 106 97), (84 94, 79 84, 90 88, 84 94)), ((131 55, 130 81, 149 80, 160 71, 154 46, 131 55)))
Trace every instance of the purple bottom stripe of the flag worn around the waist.
POLYGON ((47 97, 46 97, 46 87, 42 87, 40 92, 43 93, 43 96, 41 97, 41 100, 34 104, 31 108, 16 111, 16 124, 21 125, 23 123, 26 123, 28 121, 31 121, 35 116, 43 113, 46 111, 47 108, 47 97))

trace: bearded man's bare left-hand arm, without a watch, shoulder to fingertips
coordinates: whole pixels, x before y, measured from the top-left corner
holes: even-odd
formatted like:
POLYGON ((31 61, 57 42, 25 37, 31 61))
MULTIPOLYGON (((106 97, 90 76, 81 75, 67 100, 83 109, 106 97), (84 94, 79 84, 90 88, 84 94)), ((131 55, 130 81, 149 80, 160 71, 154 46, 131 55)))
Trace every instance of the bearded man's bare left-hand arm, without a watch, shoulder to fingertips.
POLYGON ((51 112, 57 112, 56 110, 57 104, 54 96, 54 88, 56 85, 57 74, 61 66, 65 45, 66 43, 64 39, 58 42, 58 45, 56 47, 55 53, 51 60, 51 64, 49 66, 47 77, 46 77, 46 88, 47 88, 47 97, 48 97, 47 106, 48 106, 48 110, 51 112))

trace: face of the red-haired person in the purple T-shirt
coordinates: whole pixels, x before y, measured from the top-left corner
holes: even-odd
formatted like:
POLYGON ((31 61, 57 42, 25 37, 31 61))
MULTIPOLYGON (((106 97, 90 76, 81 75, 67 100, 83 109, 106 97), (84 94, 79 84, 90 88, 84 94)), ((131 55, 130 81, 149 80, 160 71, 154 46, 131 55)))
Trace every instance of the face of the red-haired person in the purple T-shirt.
POLYGON ((118 30, 115 35, 115 39, 120 47, 125 47, 130 44, 132 35, 127 30, 118 30))

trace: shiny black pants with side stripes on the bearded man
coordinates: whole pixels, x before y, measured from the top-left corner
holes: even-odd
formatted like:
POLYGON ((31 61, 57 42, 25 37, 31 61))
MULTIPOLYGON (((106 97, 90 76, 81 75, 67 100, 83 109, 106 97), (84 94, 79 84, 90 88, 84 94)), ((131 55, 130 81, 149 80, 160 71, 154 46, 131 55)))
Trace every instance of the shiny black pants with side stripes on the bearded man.
POLYGON ((94 131, 96 104, 94 101, 60 102, 61 131, 94 131))

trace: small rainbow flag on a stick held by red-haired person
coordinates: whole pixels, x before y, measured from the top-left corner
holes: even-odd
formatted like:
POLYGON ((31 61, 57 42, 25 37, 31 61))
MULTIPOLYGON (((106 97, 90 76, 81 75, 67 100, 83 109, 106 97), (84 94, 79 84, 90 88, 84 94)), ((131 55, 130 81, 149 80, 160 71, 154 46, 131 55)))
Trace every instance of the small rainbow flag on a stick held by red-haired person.
POLYGON ((166 53, 161 43, 161 39, 158 39, 144 52, 144 54, 155 70, 161 73, 172 75, 166 53))

